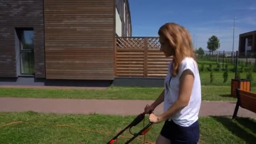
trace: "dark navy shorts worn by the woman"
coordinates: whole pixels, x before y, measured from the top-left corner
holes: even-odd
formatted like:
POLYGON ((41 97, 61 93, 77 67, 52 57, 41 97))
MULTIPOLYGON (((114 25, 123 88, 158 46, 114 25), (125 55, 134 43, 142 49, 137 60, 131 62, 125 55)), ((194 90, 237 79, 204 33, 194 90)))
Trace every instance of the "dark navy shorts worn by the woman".
POLYGON ((160 134, 171 140, 171 144, 197 144, 199 140, 199 123, 197 120, 189 127, 184 127, 177 125, 172 120, 166 120, 160 134))

